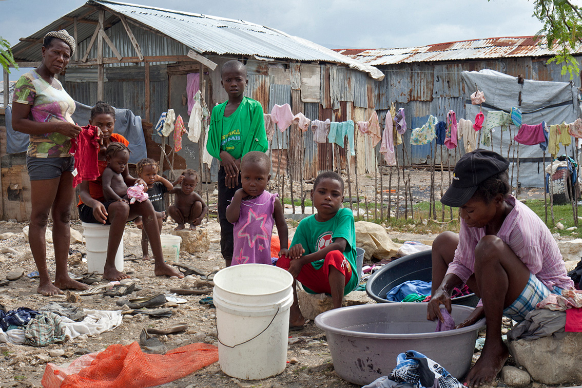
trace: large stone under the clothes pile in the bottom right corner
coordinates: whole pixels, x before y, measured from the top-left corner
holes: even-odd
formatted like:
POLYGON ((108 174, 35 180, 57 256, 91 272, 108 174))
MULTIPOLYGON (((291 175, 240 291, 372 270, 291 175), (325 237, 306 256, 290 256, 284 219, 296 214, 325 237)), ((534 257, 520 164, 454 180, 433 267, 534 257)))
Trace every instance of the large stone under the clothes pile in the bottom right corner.
POLYGON ((580 343, 582 333, 567 333, 559 340, 552 336, 532 341, 510 341, 509 351, 518 366, 526 368, 532 379, 556 386, 582 380, 580 343), (548 362, 549 359, 552 362, 548 362))

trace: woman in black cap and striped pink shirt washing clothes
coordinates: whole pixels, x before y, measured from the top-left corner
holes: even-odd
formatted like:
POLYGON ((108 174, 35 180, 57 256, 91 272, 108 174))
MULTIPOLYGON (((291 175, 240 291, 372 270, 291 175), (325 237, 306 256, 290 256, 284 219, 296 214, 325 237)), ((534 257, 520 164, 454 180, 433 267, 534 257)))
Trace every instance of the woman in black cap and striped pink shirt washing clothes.
POLYGON ((450 312, 450 294, 462 284, 481 298, 457 325, 471 325, 483 316, 487 323, 481 357, 465 378, 470 388, 494 379, 508 358, 502 316, 521 322, 549 294, 574 287, 548 227, 509 194, 508 166, 503 156, 484 149, 463 155, 441 198, 459 208, 460 232, 442 233, 432 244, 427 318, 443 321, 439 306, 450 312))

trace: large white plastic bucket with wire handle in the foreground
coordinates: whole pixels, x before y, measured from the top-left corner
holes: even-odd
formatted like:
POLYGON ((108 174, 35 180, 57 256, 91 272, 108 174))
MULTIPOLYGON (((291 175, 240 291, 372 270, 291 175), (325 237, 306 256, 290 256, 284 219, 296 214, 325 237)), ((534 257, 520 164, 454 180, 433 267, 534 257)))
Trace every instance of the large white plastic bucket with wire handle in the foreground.
POLYGON ((293 276, 265 264, 240 264, 214 276, 218 362, 243 380, 266 379, 285 370, 293 276))

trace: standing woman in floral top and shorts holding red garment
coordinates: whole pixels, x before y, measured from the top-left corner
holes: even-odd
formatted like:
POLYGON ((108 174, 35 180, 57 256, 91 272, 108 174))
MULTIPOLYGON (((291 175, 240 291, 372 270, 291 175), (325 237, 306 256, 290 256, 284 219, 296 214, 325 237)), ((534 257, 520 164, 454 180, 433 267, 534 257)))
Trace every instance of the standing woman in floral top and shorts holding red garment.
POLYGON ((69 218, 74 197, 74 159, 69 154, 70 140, 81 128, 71 118, 75 104, 55 79, 73 55, 76 43, 66 30, 44 36, 41 65, 17 81, 12 104, 12 127, 29 134, 26 168, 30 176, 29 242, 44 296, 62 294, 65 289, 84 290, 87 284, 69 277, 69 218), (52 212, 52 237, 55 248, 55 282, 47 269, 45 231, 52 212))

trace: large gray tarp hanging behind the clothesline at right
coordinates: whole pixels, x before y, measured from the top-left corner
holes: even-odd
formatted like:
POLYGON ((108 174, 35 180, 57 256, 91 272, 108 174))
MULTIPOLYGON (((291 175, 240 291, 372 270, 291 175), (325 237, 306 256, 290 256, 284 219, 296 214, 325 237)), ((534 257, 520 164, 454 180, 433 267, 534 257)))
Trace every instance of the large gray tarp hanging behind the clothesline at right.
MULTIPOLYGON (((546 124, 571 123, 580 115, 579 99, 576 87, 565 82, 524 80, 523 85, 517 83, 517 77, 495 72, 494 70, 481 70, 480 72, 462 72, 464 90, 467 95, 465 105, 466 119, 475 121, 475 115, 479 113, 479 106, 472 105, 469 96, 475 91, 475 86, 485 93, 487 101, 482 105, 487 122, 487 112, 510 112, 512 107, 519 108, 522 113, 523 124, 537 125, 542 121, 546 124), (521 92, 521 106, 519 95, 521 92)), ((458 119, 458 118, 457 118, 458 119)), ((512 126, 511 137, 516 136, 517 129, 512 126)), ((513 139, 512 139, 513 140, 513 139)), ((574 139, 573 139, 574 140, 574 139)), ((496 128, 492 133, 492 148, 495 152, 508 157, 511 162, 517 161, 517 148, 515 154, 513 147, 509 147, 510 131, 502 131, 496 128), (503 137, 503 138, 502 138, 503 137), (513 159, 515 158, 515 159, 513 159)), ((514 147, 519 146, 519 181, 522 187, 544 187, 544 151, 538 145, 521 145, 513 141, 514 147)), ((573 145, 564 149, 560 145, 558 155, 567 153, 573 156, 573 145)), ((546 151, 546 166, 551 162, 551 156, 546 151)), ((511 177, 512 166, 509 166, 511 177)), ((513 184, 516 186, 517 163, 513 163, 513 184)))

